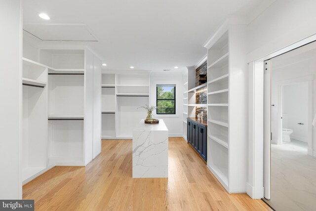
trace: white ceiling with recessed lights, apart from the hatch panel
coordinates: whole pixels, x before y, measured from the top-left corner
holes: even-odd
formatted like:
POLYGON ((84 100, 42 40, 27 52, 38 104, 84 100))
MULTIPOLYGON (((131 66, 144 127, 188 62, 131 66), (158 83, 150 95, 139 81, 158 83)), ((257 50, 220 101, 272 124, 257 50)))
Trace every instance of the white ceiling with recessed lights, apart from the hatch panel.
POLYGON ((23 23, 85 24, 106 69, 173 69, 195 65, 202 44, 229 15, 247 15, 264 0, 24 0, 23 23), (44 12, 50 20, 41 19, 44 12))

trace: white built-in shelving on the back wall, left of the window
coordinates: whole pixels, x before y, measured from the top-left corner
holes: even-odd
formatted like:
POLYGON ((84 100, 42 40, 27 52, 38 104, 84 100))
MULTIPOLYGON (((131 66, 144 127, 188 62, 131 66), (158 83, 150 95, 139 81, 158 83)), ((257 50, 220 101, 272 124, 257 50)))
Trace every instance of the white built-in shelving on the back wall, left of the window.
POLYGON ((146 118, 137 109, 149 104, 150 75, 102 74, 102 138, 131 138, 133 126, 146 118))

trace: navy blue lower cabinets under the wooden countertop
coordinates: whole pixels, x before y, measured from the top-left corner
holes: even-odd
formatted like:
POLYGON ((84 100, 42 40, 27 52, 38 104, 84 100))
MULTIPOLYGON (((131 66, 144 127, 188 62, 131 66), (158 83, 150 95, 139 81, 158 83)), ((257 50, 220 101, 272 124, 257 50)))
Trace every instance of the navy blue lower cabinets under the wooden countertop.
POLYGON ((196 121, 196 118, 187 119, 187 139, 188 143, 206 161, 207 149, 207 125, 206 121, 196 121))

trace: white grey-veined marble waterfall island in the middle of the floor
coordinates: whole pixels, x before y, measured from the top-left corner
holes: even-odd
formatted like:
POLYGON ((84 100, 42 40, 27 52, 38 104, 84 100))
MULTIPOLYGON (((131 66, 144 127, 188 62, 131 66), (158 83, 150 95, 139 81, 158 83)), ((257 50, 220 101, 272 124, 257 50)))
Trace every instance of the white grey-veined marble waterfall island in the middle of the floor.
POLYGON ((168 177, 168 128, 141 120, 133 130, 133 178, 168 177))

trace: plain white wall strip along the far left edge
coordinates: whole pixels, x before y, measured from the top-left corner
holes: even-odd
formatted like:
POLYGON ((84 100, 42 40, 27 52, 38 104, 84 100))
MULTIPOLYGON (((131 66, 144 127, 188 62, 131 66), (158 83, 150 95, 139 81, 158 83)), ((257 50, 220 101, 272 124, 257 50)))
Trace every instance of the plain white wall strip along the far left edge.
POLYGON ((22 199, 22 9, 0 1, 0 199, 22 199))

